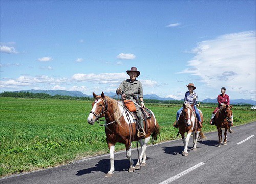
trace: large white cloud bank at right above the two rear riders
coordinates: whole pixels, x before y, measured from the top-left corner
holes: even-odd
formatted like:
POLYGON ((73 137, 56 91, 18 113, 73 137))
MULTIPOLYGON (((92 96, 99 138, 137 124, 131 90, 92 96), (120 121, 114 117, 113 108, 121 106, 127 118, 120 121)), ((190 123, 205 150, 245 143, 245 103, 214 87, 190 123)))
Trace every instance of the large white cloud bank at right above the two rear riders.
POLYGON ((247 31, 202 41, 193 49, 196 55, 189 67, 178 73, 198 75, 211 88, 225 86, 249 94, 256 88, 255 40, 255 32, 247 31))

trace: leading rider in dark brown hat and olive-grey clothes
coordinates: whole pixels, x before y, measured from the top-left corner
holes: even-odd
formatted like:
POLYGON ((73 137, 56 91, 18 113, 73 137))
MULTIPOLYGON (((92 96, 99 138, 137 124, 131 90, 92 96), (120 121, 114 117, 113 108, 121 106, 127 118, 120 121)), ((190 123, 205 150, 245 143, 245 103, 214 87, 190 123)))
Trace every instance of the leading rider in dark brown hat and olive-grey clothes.
MULTIPOLYGON (((144 102, 143 102, 143 89, 142 84, 140 81, 136 79, 136 77, 139 77, 140 71, 137 70, 136 67, 131 67, 131 70, 127 70, 126 73, 130 76, 130 79, 126 79, 122 81, 122 83, 119 85, 118 89, 116 90, 116 93, 122 94, 123 98, 133 100, 135 103, 137 96, 139 96, 140 104, 142 108, 145 108, 144 102)), ((136 107, 136 115, 139 119, 139 123, 141 126, 141 129, 139 130, 138 136, 145 136, 146 133, 144 131, 144 124, 143 124, 143 115, 138 105, 135 105, 136 107)))

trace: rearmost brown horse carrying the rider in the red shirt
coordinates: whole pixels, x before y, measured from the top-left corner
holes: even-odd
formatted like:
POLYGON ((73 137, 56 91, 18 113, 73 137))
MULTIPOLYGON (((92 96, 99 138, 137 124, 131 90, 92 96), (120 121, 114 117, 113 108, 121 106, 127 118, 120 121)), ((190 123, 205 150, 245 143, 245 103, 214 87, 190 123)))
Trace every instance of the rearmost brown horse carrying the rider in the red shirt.
POLYGON ((225 128, 224 131, 224 145, 227 145, 227 130, 231 133, 231 123, 233 123, 232 115, 233 112, 231 110, 233 106, 223 105, 221 108, 216 112, 213 122, 217 127, 218 136, 219 136, 219 144, 218 147, 221 147, 222 144, 222 129, 225 128))

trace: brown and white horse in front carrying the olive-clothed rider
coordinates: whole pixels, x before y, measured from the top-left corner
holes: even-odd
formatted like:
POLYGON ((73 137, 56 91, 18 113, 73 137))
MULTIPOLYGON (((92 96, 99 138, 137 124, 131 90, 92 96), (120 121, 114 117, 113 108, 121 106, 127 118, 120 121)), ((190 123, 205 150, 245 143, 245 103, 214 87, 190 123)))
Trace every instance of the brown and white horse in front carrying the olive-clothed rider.
MULTIPOLYGON (((134 169, 139 169, 140 166, 146 164, 146 147, 148 141, 154 143, 157 140, 157 136, 160 135, 160 128, 156 121, 154 114, 150 118, 147 118, 147 132, 146 135, 141 139, 137 136, 136 123, 132 114, 126 110, 121 101, 114 100, 104 93, 101 96, 97 96, 93 93, 95 98, 92 103, 92 110, 89 113, 87 121, 93 125, 99 118, 105 117, 105 132, 106 142, 110 149, 110 171, 105 177, 111 177, 114 172, 114 151, 115 144, 123 143, 126 148, 126 157, 129 159, 130 167, 129 172, 134 172, 134 169), (133 166, 133 159, 131 158, 132 141, 138 141, 142 147, 142 151, 136 166, 133 166)), ((144 127, 145 121, 144 121, 144 127)))

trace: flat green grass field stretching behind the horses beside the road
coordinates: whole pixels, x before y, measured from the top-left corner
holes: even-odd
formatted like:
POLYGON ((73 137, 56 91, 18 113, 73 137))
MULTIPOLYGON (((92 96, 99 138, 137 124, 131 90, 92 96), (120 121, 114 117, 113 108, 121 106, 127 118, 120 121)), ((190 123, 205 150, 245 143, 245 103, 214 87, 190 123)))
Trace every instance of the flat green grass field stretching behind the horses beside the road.
MULTIPOLYGON (((87 123, 91 101, 0 98, 0 176, 70 163, 108 153, 104 128, 87 123)), ((161 140, 177 139, 173 128, 180 105, 146 104, 161 127, 161 140)), ((213 108, 200 107, 203 132, 213 108)), ((256 121, 255 110, 233 108, 234 125, 256 121)), ((216 140, 218 139, 216 133, 216 140)), ((182 143, 181 143, 182 144, 182 143)), ((135 144, 133 144, 135 147, 135 144)), ((125 149, 117 144, 116 151, 125 149)))

